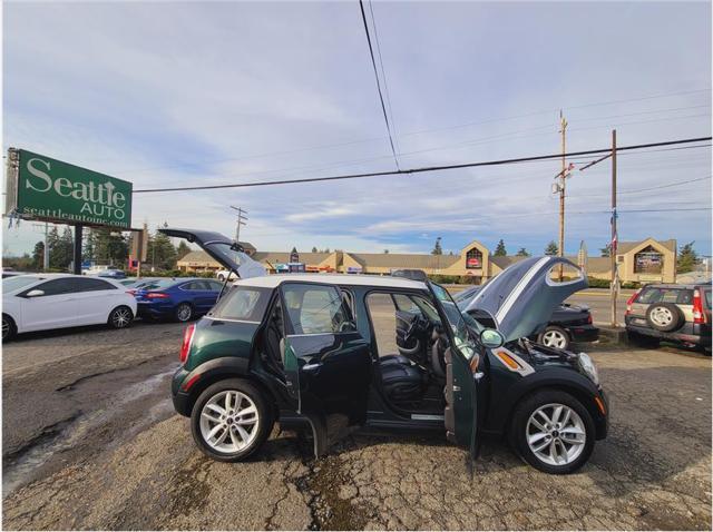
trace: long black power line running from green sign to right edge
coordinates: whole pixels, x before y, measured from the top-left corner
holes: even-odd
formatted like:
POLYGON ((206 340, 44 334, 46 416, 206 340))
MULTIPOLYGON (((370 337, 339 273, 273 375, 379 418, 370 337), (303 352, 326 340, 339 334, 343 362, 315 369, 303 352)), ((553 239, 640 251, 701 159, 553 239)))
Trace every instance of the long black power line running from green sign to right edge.
MULTIPOLYGON (((658 146, 673 146, 673 145, 682 145, 690 142, 703 142, 712 140, 711 137, 699 137, 699 138, 688 138, 688 139, 680 139, 680 140, 666 140, 663 142, 649 142, 634 146, 624 146, 622 148, 617 148, 618 151, 626 151, 633 149, 643 149, 643 148, 654 148, 658 146)), ((573 151, 569 154, 564 154, 565 157, 575 157, 583 155, 594 155, 594 154, 603 154, 611 151, 611 148, 600 148, 585 151, 573 151)), ((358 178, 367 178, 367 177, 382 177, 382 176, 398 176, 398 175, 407 175, 407 174, 421 174, 426 171, 439 171, 439 170, 455 170, 462 168, 476 168, 482 166, 502 166, 502 165, 511 165, 515 162, 529 162, 536 160, 548 160, 556 159, 563 157, 563 154, 555 155, 540 155, 533 157, 518 157, 512 159, 499 159, 499 160, 488 160, 488 161, 478 161, 478 162, 463 162, 460 165, 442 165, 442 166, 429 166, 429 167, 420 167, 420 168, 410 168, 406 170, 385 170, 385 171, 373 171, 373 173, 364 173, 364 174, 348 174, 342 176, 325 176, 325 177, 307 177, 301 179, 281 179, 275 181, 254 181, 254 183, 236 183, 229 185, 201 185, 195 187, 170 187, 170 188, 145 188, 140 190, 134 190, 135 194, 139 193, 167 193, 167 191, 179 191, 179 190, 212 190, 212 189, 221 189, 221 188, 247 188, 247 187, 265 187, 265 186, 275 186, 275 185, 291 185, 291 184, 300 184, 300 183, 318 183, 318 181, 334 181, 334 180, 343 180, 343 179, 358 179, 358 178)))

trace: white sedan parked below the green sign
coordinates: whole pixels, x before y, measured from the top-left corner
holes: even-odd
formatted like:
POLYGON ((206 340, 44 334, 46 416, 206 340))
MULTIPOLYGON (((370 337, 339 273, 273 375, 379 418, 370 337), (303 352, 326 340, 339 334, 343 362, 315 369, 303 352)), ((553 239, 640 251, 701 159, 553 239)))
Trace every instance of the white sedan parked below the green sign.
POLYGON ((2 280, 2 339, 18 333, 106 323, 128 327, 136 301, 111 279, 31 274, 2 280))

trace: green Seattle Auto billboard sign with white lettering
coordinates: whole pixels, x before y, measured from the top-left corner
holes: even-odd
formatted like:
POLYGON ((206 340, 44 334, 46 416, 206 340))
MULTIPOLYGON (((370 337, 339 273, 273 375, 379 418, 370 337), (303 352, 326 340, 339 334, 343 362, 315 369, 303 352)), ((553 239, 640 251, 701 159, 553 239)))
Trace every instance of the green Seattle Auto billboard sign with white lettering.
POLYGON ((10 148, 7 215, 72 225, 131 226, 131 184, 10 148))

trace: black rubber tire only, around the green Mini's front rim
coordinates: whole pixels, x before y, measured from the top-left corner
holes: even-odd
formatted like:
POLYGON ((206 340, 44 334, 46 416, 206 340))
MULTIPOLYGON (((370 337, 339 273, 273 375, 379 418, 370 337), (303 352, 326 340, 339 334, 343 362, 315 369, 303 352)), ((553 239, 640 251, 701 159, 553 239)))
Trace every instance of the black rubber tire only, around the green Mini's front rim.
POLYGON ((510 441, 510 446, 512 447, 512 450, 533 467, 545 473, 561 475, 574 473, 579 467, 582 467, 587 462, 587 460, 589 460, 592 451, 594 450, 595 426, 594 421, 592 420, 592 415, 579 401, 577 401, 574 396, 569 395, 566 392, 549 388, 535 392, 533 395, 525 397, 517 404, 517 406, 515 407, 515 412, 512 413, 512 421, 510 423, 508 439, 510 441), (554 465, 541 461, 535 455, 527 443, 528 421, 530 416, 540 406, 549 404, 568 406, 577 413, 584 424, 584 449, 575 460, 566 464, 554 465))

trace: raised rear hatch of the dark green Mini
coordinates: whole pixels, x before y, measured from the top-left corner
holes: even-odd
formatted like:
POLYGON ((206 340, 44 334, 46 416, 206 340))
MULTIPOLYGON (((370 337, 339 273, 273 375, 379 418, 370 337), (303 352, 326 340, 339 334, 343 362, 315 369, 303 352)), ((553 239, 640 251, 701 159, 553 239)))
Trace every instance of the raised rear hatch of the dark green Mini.
POLYGON ((167 236, 185 238, 197 244, 201 248, 221 263, 226 269, 232 269, 242 279, 266 275, 262 264, 250 258, 235 240, 211 230, 174 229, 170 227, 158 229, 167 236))

